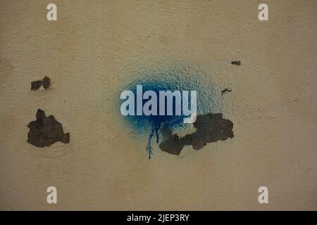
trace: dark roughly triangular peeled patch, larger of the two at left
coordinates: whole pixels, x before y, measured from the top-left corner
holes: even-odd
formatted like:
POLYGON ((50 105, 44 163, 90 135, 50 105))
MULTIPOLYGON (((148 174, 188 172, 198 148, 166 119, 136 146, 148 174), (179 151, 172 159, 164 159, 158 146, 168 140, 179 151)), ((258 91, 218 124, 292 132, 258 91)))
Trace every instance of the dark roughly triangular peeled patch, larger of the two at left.
POLYGON ((46 117, 43 110, 37 110, 37 120, 27 125, 30 128, 27 142, 33 146, 49 147, 57 141, 69 143, 70 134, 64 134, 62 124, 57 122, 53 115, 46 117))

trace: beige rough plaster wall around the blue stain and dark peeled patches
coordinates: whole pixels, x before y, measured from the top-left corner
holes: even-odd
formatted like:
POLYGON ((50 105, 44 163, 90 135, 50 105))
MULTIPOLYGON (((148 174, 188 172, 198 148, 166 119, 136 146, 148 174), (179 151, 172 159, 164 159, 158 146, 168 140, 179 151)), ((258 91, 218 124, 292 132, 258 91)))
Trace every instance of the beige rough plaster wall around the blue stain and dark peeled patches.
POLYGON ((265 1, 260 22, 261 2, 56 0, 49 22, 48 1, 1 0, 0 209, 317 210, 317 2, 265 1), (179 156, 154 145, 149 160, 117 93, 134 70, 173 62, 232 90, 235 138, 179 156), (31 91, 44 76, 51 87, 31 91), (27 143, 39 108, 70 143, 27 143))

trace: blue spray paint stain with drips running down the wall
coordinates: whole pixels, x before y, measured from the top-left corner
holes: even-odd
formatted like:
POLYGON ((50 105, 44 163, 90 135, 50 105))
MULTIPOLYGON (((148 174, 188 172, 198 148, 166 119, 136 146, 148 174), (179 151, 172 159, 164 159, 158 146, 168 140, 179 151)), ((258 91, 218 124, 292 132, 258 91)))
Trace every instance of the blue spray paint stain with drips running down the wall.
MULTIPOLYGON (((216 91, 213 88, 213 82, 199 70, 194 68, 174 67, 160 68, 150 72, 140 72, 136 78, 128 85, 123 86, 121 91, 130 90, 135 94, 135 105, 137 105, 137 85, 142 85, 143 93, 145 91, 155 91, 159 100, 159 91, 197 91, 197 115, 218 112, 221 108, 216 91)), ((120 99, 119 99, 120 100, 120 99)), ((124 100, 120 100, 120 104, 124 100)), ((143 100, 143 105, 148 100, 143 100)), ((190 103, 190 99, 189 99, 190 103)), ((119 105, 120 105, 119 104, 119 105)), ((159 104, 157 105, 159 112, 159 104)), ((190 104, 189 104, 190 107, 190 104)), ((135 107, 136 109, 136 107, 135 107)), ((120 109, 119 109, 120 111, 120 109)), ((159 130, 162 126, 172 131, 183 130, 189 127, 184 123, 184 118, 188 116, 175 115, 175 104, 173 104, 173 115, 127 115, 125 120, 138 134, 146 134, 147 153, 149 158, 153 154, 153 140, 159 143, 159 130)))

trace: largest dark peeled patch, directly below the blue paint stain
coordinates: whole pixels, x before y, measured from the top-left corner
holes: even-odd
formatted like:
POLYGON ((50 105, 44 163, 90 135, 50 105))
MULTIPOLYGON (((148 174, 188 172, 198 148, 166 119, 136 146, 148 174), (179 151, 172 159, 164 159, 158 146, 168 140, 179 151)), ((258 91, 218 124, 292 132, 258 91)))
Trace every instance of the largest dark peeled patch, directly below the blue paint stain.
POLYGON ((221 113, 198 115, 194 127, 197 130, 193 134, 187 134, 181 138, 177 134, 172 134, 170 129, 163 127, 163 141, 159 147, 170 154, 179 155, 184 146, 192 146, 194 150, 199 150, 207 143, 233 138, 233 123, 223 119, 221 113))

